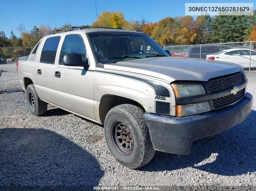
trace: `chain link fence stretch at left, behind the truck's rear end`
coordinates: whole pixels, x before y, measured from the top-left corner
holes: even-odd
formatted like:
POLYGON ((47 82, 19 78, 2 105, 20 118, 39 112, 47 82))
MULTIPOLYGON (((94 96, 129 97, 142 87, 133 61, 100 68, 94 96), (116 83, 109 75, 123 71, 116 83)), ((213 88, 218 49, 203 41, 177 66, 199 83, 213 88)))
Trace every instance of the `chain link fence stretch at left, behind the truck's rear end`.
POLYGON ((19 89, 17 61, 20 56, 28 56, 31 47, 0 47, 0 93, 19 89))

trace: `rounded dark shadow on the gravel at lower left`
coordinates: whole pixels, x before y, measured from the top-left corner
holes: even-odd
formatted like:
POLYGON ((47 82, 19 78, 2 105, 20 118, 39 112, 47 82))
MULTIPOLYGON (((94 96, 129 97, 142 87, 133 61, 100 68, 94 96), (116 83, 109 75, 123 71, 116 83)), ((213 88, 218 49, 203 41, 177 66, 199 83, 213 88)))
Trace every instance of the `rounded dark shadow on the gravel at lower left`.
POLYGON ((0 129, 0 158, 0 190, 1 186, 74 190, 97 186, 104 175, 94 156, 45 129, 0 129))

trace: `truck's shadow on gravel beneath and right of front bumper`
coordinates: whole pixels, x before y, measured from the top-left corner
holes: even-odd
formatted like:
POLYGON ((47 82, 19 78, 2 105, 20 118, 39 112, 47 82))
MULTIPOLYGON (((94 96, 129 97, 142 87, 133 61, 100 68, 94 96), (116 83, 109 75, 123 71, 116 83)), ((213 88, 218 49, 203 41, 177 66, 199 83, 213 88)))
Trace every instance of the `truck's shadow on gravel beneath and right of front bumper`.
MULTIPOLYGON (((235 176, 256 171, 256 111, 243 123, 207 138, 194 141, 188 155, 157 152, 142 171, 177 170, 193 167, 225 176, 235 176)), ((220 121, 221 123, 221 121, 220 121)))

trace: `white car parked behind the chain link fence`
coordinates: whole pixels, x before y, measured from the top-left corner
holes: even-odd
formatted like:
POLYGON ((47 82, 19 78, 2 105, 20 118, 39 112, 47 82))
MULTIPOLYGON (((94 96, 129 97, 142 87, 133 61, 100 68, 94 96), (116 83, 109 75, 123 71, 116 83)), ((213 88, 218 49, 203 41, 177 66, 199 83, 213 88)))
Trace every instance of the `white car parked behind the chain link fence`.
MULTIPOLYGON (((250 49, 228 49, 218 53, 206 55, 208 60, 232 62, 248 68, 250 65, 250 49)), ((251 67, 256 67, 256 51, 251 50, 251 67)))

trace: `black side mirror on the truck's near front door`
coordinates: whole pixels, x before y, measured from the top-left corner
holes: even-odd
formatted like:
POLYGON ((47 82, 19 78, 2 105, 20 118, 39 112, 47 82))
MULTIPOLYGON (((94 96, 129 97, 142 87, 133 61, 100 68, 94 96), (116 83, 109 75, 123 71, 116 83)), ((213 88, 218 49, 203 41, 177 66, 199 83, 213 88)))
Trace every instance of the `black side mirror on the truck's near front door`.
POLYGON ((66 54, 63 57, 63 65, 65 65, 65 66, 82 66, 85 68, 88 68, 90 66, 87 58, 85 58, 85 61, 83 61, 82 55, 75 54, 75 53, 66 54))

